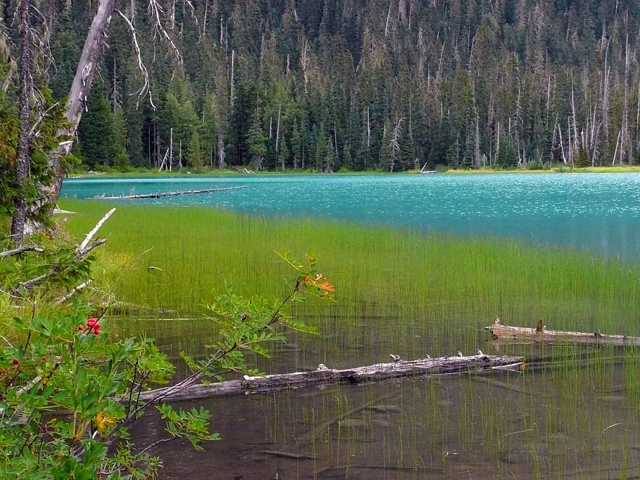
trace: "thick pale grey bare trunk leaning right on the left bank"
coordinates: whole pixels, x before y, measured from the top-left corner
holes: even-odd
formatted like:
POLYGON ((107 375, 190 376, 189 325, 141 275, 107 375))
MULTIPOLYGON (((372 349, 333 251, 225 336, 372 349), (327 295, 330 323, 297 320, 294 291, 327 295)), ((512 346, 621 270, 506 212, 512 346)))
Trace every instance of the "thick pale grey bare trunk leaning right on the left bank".
MULTIPOLYGON (((23 0, 24 1, 24 0, 23 0)), ((60 196, 60 188, 65 172, 60 162, 64 155, 68 155, 73 145, 73 137, 75 137, 78 124, 82 118, 89 92, 91 91, 91 82, 94 73, 98 67, 99 58, 104 46, 105 37, 111 22, 111 16, 115 10, 117 0, 101 0, 98 5, 98 11, 94 15, 91 22, 87 39, 84 41, 82 55, 78 62, 78 67, 69 91, 69 100, 66 105, 65 117, 69 124, 65 129, 58 131, 58 138, 61 138, 58 148, 49 154, 49 171, 52 179, 51 183, 42 186, 39 197, 34 209, 43 209, 55 204, 60 196)), ((28 130, 27 130, 28 131, 28 130)), ((35 226, 27 226, 27 229, 33 229, 35 226)))

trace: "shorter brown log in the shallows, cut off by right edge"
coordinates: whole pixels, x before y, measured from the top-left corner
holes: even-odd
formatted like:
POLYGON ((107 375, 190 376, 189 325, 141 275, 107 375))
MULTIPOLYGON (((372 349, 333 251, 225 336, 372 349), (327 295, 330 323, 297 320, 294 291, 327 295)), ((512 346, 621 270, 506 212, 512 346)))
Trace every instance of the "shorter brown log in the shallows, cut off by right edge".
POLYGON ((564 332, 562 330, 546 330, 540 320, 535 328, 512 327, 502 325, 496 318, 493 325, 485 327, 489 330, 494 340, 504 341, 528 341, 528 342, 569 342, 587 345, 637 345, 640 346, 640 337, 627 337, 626 335, 605 335, 599 330, 594 333, 564 332))

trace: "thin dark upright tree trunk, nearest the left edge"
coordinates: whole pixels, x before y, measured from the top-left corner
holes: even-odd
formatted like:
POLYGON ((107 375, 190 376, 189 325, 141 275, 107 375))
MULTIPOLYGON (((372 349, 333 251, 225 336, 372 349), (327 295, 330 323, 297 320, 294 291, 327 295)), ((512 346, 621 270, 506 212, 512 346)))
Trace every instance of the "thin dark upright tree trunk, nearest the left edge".
POLYGON ((33 93, 32 81, 32 55, 31 55, 31 18, 30 0, 21 0, 18 5, 18 18, 20 29, 20 56, 18 56, 18 87, 20 134, 18 135, 18 162, 16 168, 15 183, 17 195, 13 200, 15 213, 11 221, 11 236, 17 247, 23 243, 25 223, 27 221, 27 200, 25 198, 25 186, 29 179, 30 160, 30 113, 31 96, 33 93))

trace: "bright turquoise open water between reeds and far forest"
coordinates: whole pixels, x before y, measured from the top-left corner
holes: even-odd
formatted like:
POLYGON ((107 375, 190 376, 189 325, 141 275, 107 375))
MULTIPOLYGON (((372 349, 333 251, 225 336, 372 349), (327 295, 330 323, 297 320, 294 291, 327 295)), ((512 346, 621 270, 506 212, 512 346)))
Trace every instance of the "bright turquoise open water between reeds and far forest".
POLYGON ((120 200, 497 235, 640 259, 640 174, 308 175, 70 179, 63 197, 228 188, 120 200))

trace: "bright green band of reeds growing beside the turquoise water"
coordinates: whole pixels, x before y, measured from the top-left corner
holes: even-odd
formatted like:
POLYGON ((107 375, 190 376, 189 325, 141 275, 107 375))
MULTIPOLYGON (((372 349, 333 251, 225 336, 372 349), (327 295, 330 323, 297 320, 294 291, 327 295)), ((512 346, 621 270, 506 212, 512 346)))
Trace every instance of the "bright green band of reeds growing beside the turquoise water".
MULTIPOLYGON (((66 225, 81 238, 110 205, 61 207, 78 212, 66 225)), ((120 301, 174 316, 200 315, 226 281, 242 294, 283 295, 290 271, 274 251, 288 250, 316 254, 336 287, 335 304, 307 302, 298 314, 330 328, 334 342, 365 350, 383 341, 411 351, 428 338, 437 349, 459 342, 475 351, 495 316, 640 335, 639 269, 570 250, 196 207, 118 206, 100 235, 109 240, 98 253, 97 283, 111 285, 120 301)))

